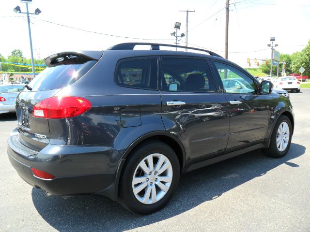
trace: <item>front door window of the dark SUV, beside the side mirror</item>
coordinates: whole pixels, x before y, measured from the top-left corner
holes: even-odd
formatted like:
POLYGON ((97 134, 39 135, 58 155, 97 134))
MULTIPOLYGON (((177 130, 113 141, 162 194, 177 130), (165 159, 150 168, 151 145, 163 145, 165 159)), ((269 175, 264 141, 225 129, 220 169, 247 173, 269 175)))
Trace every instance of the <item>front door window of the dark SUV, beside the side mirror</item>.
POLYGON ((255 93, 253 80, 233 66, 214 62, 226 93, 255 93))

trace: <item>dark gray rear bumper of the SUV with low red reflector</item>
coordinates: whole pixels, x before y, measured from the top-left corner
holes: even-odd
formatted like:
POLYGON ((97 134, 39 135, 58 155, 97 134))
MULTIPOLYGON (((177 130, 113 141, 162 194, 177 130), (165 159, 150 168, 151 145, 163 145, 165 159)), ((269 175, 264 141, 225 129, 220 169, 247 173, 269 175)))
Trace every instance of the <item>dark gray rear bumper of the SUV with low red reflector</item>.
MULTIPOLYGON (((8 140, 9 160, 19 176, 31 186, 42 188, 48 193, 56 195, 99 193, 115 199, 113 195, 115 188, 111 188, 111 186, 114 186, 117 165, 115 165, 114 172, 107 168, 109 165, 105 165, 105 162, 113 163, 113 160, 112 162, 106 160, 107 154, 104 151, 107 147, 103 148, 103 152, 100 154, 98 147, 96 147, 97 151, 94 151, 93 146, 88 146, 88 149, 82 148, 82 153, 76 153, 77 146, 65 146, 66 149, 64 150, 63 146, 47 145, 40 152, 32 150, 31 153, 30 148, 22 145, 16 141, 16 137, 12 138, 12 136, 16 136, 16 131, 12 132, 8 140), (71 152, 68 152, 69 150, 71 152), (64 152, 62 153, 62 151, 64 152), (45 180, 35 177, 32 174, 31 167, 50 173, 56 178, 45 180), (105 194, 105 189, 109 189, 109 194, 105 194)), ((114 149, 110 155, 111 159, 119 157, 114 149)), ((118 159, 117 163, 119 161, 118 159)))

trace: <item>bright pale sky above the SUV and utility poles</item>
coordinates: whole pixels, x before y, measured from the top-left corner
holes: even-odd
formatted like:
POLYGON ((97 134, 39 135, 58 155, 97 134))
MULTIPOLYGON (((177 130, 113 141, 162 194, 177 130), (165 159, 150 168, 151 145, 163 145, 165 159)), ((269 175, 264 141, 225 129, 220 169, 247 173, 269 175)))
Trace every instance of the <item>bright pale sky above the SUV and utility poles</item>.
MULTIPOLYGON (((186 13, 180 10, 187 9, 195 11, 189 13, 188 46, 224 56, 225 1, 32 0, 29 11, 42 11, 30 18, 34 58, 68 50, 104 50, 125 42, 174 44, 170 34, 174 22, 181 22, 179 34, 186 33, 186 13)), ((7 57, 21 49, 30 58, 27 18, 13 11, 17 5, 26 11, 20 0, 0 0, 0 54, 7 57)), ((301 51, 310 40, 309 27, 309 0, 230 0, 228 59, 248 67, 247 58, 270 58, 271 36, 276 37, 280 53, 301 51)), ((181 40, 185 45, 185 37, 181 40)))

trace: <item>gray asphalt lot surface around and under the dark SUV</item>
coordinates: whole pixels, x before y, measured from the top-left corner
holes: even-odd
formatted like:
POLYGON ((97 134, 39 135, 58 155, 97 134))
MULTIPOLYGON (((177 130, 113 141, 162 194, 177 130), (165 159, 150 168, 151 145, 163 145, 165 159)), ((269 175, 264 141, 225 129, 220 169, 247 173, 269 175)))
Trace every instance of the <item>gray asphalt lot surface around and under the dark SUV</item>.
POLYGON ((0 115, 0 231, 309 231, 310 89, 290 96, 295 129, 286 157, 257 150, 193 171, 149 216, 100 196, 46 197, 26 184, 6 155, 16 117, 0 115))

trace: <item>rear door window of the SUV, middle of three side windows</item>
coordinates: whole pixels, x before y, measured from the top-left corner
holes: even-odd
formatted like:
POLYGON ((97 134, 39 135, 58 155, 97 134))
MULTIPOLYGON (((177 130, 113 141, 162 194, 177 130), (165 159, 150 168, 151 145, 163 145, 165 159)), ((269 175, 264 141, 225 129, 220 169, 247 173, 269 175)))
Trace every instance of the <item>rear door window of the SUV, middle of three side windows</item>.
POLYGON ((215 82, 206 60, 190 58, 162 60, 162 90, 216 92, 215 82))

